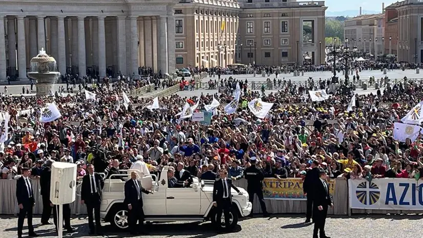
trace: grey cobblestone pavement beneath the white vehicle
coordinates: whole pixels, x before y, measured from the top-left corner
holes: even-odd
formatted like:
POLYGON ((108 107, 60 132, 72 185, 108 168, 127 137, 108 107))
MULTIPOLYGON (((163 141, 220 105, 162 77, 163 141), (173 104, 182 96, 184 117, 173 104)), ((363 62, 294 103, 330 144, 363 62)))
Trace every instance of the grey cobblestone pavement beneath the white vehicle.
MULTIPOLYGON (((421 235, 421 215, 353 215, 332 216, 326 220, 326 233, 331 237, 360 237, 360 238, 418 238, 421 235)), ((50 220, 51 221, 51 220, 50 220)), ((304 217, 300 215, 276 215, 269 218, 254 217, 240 221, 236 231, 230 234, 216 233, 212 225, 207 223, 162 223, 151 224, 147 228, 149 235, 139 237, 312 237, 312 224, 304 224, 304 217)), ((34 218, 34 224, 39 224, 39 216, 34 218)), ((16 237, 17 217, 0 216, 0 237, 16 237)), ((88 220, 86 217, 73 217, 71 221, 75 228, 73 233, 64 233, 64 237, 101 237, 89 236, 88 220)), ((137 237, 128 232, 113 231, 108 225, 103 225, 103 237, 137 237)), ((35 232, 40 237, 57 237, 53 225, 35 225, 35 232)), ((24 237, 28 234, 26 222, 24 237)))

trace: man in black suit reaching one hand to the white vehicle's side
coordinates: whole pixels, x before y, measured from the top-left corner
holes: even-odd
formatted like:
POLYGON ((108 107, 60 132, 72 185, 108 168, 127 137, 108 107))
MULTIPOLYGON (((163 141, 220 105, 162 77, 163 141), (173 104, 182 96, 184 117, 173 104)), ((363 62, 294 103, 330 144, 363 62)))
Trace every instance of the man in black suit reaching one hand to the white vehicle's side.
POLYGON ((125 183, 125 200, 124 204, 128 206, 128 224, 131 234, 139 234, 137 232, 137 222, 139 221, 140 231, 145 233, 143 229, 144 224, 144 211, 142 210, 142 195, 141 192, 145 194, 153 193, 151 191, 145 190, 141 183, 137 180, 138 174, 135 171, 131 172, 131 179, 125 183))

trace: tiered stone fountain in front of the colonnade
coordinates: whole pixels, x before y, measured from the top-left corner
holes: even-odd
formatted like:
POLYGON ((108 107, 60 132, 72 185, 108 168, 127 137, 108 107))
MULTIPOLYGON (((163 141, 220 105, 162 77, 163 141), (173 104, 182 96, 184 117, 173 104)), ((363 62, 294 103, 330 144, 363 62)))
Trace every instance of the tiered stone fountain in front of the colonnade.
POLYGON ((36 95, 50 95, 59 76, 56 60, 41 48, 39 54, 31 59, 31 72, 28 73, 28 77, 36 82, 36 95))

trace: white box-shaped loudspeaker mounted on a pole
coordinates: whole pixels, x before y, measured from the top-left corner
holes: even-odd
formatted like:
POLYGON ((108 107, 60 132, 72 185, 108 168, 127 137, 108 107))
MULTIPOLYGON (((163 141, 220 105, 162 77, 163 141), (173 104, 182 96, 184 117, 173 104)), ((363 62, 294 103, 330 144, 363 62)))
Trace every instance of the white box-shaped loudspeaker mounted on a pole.
POLYGON ((55 162, 51 165, 50 200, 54 205, 75 201, 76 164, 55 162))

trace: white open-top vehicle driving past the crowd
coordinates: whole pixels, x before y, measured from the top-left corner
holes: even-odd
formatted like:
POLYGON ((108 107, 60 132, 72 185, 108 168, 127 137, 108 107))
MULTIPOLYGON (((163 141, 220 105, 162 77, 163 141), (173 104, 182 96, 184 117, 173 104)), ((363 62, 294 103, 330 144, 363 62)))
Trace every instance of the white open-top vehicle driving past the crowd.
MULTIPOLYGON (((141 178, 141 185, 153 194, 142 194, 143 210, 146 222, 174 222, 174 221, 216 221, 224 227, 224 215, 218 219, 216 209, 213 206, 213 183, 200 183, 194 177, 194 183, 187 188, 167 187, 167 166, 162 169, 160 179, 154 174, 145 175, 141 178)), ((100 216, 114 227, 125 229, 128 227, 128 207, 123 204, 125 181, 131 176, 127 174, 112 174, 104 181, 100 216)), ((230 212, 230 226, 235 227, 238 217, 247 216, 251 212, 252 205, 248 202, 248 193, 239 188, 243 193, 239 195, 234 189, 232 193, 232 210, 230 212)))

